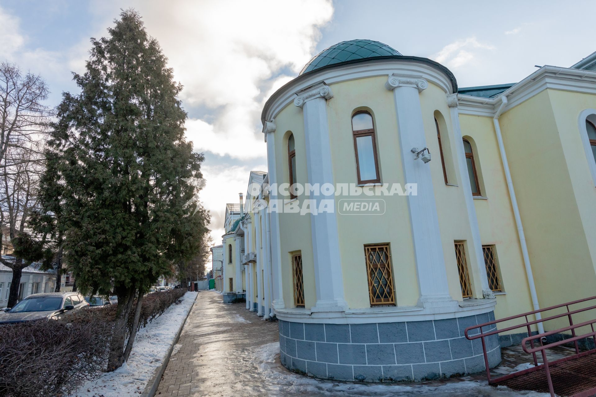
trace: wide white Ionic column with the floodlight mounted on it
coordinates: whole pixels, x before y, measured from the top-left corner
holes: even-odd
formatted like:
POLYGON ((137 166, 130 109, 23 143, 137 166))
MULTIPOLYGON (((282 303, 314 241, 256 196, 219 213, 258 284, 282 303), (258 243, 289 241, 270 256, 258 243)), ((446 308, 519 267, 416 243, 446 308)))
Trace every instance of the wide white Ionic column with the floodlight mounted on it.
POLYGON ((419 303, 424 306, 433 301, 452 301, 430 164, 424 164, 412 153, 412 148, 421 150, 427 147, 420 107, 420 92, 427 86, 421 76, 402 74, 390 74, 386 83, 386 88, 393 90, 395 97, 405 183, 417 184, 417 195, 408 195, 407 198, 418 271, 419 303))

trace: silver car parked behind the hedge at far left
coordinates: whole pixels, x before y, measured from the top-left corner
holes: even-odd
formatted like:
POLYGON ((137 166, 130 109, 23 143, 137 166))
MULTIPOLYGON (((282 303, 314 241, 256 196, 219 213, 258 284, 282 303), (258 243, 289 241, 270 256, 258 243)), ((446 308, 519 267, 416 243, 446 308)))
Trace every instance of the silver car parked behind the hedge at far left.
POLYGON ((78 292, 34 293, 0 313, 0 324, 56 319, 88 307, 78 292))

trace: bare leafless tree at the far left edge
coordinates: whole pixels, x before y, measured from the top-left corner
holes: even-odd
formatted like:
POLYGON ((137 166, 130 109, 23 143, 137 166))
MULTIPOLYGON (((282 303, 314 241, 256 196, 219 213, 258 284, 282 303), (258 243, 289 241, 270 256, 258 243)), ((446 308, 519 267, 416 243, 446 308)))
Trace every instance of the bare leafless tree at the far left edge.
POLYGON ((21 272, 36 256, 33 251, 39 250, 29 218, 39 204, 42 149, 51 116, 43 104, 47 97, 41 76, 0 64, 0 233, 2 241, 15 249, 14 258, 0 257, 13 270, 8 307, 17 302, 21 272))

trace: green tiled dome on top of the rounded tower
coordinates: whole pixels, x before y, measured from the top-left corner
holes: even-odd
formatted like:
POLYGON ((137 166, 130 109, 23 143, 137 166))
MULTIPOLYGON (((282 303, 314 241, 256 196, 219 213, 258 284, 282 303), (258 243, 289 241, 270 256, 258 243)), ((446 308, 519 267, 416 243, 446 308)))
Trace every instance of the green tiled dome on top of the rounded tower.
POLYGON ((388 55, 402 55, 390 46, 374 40, 349 40, 337 43, 315 55, 300 71, 307 73, 327 65, 339 64, 346 61, 364 58, 387 57, 388 55))

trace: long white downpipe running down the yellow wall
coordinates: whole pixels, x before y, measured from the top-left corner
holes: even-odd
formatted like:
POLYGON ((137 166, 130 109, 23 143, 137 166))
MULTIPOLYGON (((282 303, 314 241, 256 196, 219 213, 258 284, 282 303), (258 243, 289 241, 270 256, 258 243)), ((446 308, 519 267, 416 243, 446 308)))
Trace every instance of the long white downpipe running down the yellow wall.
MULTIPOLYGON (((513 189, 513 180, 511 180, 511 172, 509 171, 509 163, 507 162, 507 154, 505 154, 505 146, 503 145, 503 137, 501 136, 501 126, 499 126, 499 117, 503 109, 507 105, 507 96, 501 97, 501 105, 493 117, 495 123, 496 140, 499 143, 499 152, 501 152, 501 162, 505 170, 505 179, 507 179, 507 187, 509 189, 509 198, 511 199, 511 207, 513 207, 513 215, 516 218, 517 234, 520 238, 520 245, 522 246, 523 263, 526 268, 527 283, 530 287, 530 296, 532 296, 532 305, 534 310, 540 310, 538 304, 538 295, 536 294, 536 286, 534 285, 534 276, 532 274, 532 266, 530 265, 530 256, 527 253, 526 235, 523 232, 522 217, 520 217, 520 210, 517 207, 516 192, 513 189)), ((541 320, 540 313, 535 314, 536 320, 541 320)), ((544 326, 538 323, 538 333, 544 333, 544 326)))

